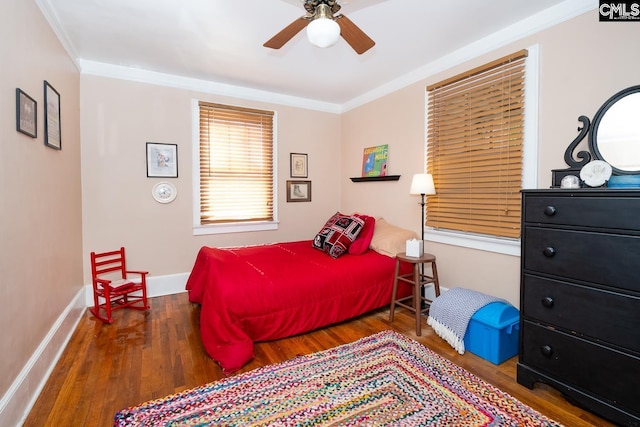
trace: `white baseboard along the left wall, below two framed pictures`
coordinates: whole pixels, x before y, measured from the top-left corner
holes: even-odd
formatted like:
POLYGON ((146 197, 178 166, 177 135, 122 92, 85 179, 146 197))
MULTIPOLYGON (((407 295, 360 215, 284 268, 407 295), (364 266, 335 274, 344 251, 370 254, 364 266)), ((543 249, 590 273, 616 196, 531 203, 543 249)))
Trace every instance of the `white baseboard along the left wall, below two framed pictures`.
POLYGON ((80 289, 0 400, 0 425, 23 424, 86 309, 83 303, 80 289))

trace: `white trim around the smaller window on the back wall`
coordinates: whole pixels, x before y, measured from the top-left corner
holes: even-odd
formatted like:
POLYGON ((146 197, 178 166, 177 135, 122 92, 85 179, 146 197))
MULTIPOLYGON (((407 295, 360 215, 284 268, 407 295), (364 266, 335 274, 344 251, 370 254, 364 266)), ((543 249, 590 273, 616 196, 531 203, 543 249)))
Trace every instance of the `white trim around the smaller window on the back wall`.
POLYGON ((250 221, 250 222, 228 222, 224 224, 200 223, 200 100, 191 100, 191 148, 192 148, 192 173, 191 188, 193 217, 192 230, 194 236, 227 233, 246 233, 255 231, 277 230, 278 220, 278 113, 273 112, 273 220, 272 221, 250 221))

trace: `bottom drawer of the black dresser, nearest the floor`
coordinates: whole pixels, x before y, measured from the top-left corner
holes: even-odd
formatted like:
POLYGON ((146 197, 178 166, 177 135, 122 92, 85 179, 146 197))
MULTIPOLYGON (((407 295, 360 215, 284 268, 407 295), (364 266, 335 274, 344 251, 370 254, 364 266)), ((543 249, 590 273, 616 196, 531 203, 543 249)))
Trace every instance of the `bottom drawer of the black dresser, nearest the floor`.
POLYGON ((522 336, 520 363, 640 415, 640 358, 528 321, 522 336))

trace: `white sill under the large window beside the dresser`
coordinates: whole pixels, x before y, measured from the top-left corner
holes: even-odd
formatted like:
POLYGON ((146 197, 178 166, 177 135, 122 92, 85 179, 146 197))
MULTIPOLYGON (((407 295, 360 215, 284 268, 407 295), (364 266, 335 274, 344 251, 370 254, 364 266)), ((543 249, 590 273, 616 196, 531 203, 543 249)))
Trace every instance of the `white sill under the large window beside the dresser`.
POLYGON ((520 256, 520 239, 501 239, 462 232, 425 230, 424 240, 503 255, 520 256))

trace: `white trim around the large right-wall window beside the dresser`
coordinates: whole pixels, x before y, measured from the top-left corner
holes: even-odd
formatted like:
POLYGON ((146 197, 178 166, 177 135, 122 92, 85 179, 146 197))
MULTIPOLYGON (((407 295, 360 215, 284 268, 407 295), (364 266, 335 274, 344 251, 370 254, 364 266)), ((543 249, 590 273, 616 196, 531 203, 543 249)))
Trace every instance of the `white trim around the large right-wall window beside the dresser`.
MULTIPOLYGON (((536 188, 538 182, 538 120, 539 120, 539 46, 527 48, 528 57, 525 62, 525 110, 524 110, 524 147, 522 158, 522 188, 536 188)), ((429 96, 425 92, 425 126, 424 154, 426 159, 428 138, 429 96)), ((436 191, 438 189, 436 188, 436 191)), ((428 196, 427 196, 428 197, 428 196)), ((427 215, 429 212, 427 211, 427 215)), ((423 218, 425 220, 425 218, 423 218)), ((504 255, 520 256, 520 239, 492 237, 487 235, 457 232, 452 230, 436 230, 425 227, 424 240, 495 252, 504 255)))

